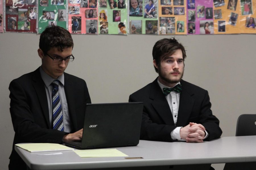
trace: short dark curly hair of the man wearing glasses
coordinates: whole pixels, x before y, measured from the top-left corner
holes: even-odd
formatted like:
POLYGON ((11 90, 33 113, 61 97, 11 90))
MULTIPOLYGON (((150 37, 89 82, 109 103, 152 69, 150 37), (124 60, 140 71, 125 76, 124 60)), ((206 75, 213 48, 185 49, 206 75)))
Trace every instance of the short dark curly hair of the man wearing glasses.
POLYGON ((49 25, 40 35, 39 48, 44 55, 53 47, 57 47, 59 51, 64 48, 74 47, 71 34, 66 29, 59 26, 49 25))

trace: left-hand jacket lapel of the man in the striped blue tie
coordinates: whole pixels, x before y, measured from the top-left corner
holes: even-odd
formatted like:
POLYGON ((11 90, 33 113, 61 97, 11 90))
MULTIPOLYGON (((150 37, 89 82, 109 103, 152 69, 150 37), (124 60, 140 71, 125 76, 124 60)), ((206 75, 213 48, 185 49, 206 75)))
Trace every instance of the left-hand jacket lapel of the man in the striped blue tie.
POLYGON ((38 97, 38 100, 41 105, 41 109, 43 111, 44 117, 46 119, 48 128, 52 128, 50 126, 50 118, 49 118, 49 109, 48 109, 48 100, 47 95, 45 91, 44 81, 41 78, 39 68, 34 71, 34 75, 32 76, 32 85, 34 86, 36 90, 36 94, 38 97))

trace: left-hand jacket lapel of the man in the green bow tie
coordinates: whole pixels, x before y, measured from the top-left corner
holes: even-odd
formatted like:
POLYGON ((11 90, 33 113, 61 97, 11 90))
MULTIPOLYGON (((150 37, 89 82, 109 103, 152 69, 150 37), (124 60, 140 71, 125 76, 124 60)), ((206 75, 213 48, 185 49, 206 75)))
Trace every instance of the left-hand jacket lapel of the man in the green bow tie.
POLYGON ((153 100, 151 104, 154 109, 156 109, 156 112, 161 116, 165 124, 174 125, 170 106, 164 96, 164 93, 158 85, 157 78, 154 80, 154 82, 152 82, 149 98, 153 100))

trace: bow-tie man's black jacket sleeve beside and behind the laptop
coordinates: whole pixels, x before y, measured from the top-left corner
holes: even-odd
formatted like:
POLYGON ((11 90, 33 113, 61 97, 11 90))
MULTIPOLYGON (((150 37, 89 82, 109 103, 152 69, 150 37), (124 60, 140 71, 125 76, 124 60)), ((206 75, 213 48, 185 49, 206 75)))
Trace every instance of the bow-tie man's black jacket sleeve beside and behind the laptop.
POLYGON ((151 112, 152 109, 149 108, 150 103, 137 99, 134 95, 130 95, 129 102, 144 103, 140 134, 141 140, 173 142, 171 132, 176 128, 176 126, 152 122, 150 116, 158 115, 151 112))

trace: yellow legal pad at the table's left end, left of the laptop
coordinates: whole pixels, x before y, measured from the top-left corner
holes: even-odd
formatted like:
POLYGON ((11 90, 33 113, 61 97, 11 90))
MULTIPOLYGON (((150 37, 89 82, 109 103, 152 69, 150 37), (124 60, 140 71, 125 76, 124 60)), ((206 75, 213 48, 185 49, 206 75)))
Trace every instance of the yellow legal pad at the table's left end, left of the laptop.
POLYGON ((64 145, 57 143, 26 143, 26 144, 16 144, 16 146, 27 150, 28 152, 51 152, 51 151, 65 151, 74 150, 64 145))

